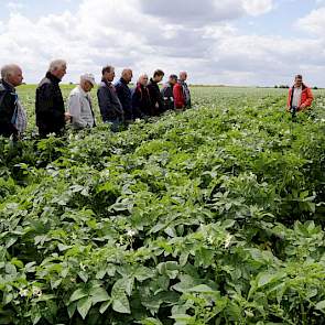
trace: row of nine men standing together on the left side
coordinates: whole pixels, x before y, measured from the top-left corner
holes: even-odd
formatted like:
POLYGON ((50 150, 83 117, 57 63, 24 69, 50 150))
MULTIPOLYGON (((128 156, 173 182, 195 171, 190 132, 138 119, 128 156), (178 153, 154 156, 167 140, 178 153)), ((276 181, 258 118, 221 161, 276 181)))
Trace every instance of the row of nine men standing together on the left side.
MULTIPOLYGON (((65 106, 59 83, 66 69, 65 61, 51 62, 45 77, 36 88, 35 117, 41 138, 50 133, 62 136, 67 122, 71 122, 74 129, 96 126, 90 96, 91 89, 96 86, 94 75, 80 76, 80 83, 69 94, 65 106)), ((148 75, 141 75, 133 89, 129 86, 132 77, 132 71, 126 68, 120 79, 113 84, 115 67, 108 65, 101 71, 97 99, 102 121, 110 123, 112 131, 136 119, 159 116, 171 109, 183 111, 191 108, 186 72, 181 72, 180 78, 171 75, 162 89, 159 84, 164 77, 164 72, 161 69, 156 69, 150 80, 148 75)), ((1 68, 0 136, 19 139, 26 130, 26 113, 15 93, 15 87, 21 85, 22 80, 22 69, 18 65, 11 64, 1 68)))

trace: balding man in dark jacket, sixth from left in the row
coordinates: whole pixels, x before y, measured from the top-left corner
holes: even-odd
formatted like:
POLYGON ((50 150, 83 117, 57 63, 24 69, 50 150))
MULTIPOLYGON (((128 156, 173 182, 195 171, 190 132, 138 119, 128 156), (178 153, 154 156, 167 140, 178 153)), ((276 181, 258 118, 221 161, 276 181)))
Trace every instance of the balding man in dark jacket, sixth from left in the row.
POLYGON ((132 90, 132 110, 134 119, 141 119, 152 115, 148 75, 145 74, 139 77, 137 87, 132 90))

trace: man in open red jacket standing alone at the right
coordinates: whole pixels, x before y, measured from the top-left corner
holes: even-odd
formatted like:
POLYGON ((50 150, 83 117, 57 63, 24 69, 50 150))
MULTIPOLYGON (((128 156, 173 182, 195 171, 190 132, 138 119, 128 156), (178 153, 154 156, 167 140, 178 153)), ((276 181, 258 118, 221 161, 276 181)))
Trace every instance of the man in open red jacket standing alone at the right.
POLYGON ((295 109, 297 112, 305 111, 312 106, 313 99, 313 93, 311 88, 303 83, 302 75, 296 75, 294 78, 294 85, 289 90, 286 110, 291 111, 292 109, 295 109))

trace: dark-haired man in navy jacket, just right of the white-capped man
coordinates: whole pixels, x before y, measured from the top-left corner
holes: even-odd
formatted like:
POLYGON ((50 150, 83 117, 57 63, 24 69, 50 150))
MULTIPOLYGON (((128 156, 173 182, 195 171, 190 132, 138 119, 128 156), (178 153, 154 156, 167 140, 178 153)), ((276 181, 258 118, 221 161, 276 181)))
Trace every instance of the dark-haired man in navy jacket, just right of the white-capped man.
POLYGON ((115 68, 110 65, 101 71, 102 78, 97 90, 98 105, 105 123, 111 123, 111 130, 118 131, 124 121, 124 111, 119 100, 118 94, 112 80, 115 78, 115 68))

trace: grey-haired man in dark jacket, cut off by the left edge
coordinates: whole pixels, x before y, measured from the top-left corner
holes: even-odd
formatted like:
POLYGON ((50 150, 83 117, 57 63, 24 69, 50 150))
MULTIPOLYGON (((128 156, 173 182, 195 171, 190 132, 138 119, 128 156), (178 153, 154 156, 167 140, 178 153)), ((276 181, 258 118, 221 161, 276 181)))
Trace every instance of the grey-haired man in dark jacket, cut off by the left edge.
POLYGON ((18 129, 14 127, 13 115, 18 106, 15 87, 23 80, 22 71, 18 65, 6 65, 1 68, 0 80, 0 136, 18 137, 18 129))

